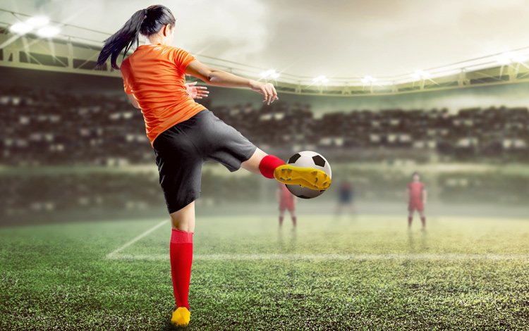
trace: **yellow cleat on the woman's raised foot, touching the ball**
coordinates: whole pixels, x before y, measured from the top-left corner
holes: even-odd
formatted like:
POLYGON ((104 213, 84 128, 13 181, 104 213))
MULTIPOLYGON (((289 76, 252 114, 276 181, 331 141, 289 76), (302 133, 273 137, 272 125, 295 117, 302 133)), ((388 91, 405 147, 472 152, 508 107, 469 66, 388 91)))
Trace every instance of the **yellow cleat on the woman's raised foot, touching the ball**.
POLYGON ((290 164, 279 165, 274 170, 274 177, 277 181, 287 185, 301 185, 318 191, 328 189, 331 185, 331 177, 324 171, 290 164))

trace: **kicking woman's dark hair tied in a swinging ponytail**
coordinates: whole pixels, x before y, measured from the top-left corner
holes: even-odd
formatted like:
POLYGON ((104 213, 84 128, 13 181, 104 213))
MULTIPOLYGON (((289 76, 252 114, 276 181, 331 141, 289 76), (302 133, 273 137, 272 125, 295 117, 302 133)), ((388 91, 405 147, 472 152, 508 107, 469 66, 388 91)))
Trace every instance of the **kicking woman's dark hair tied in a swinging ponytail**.
POLYGON ((118 32, 104 41, 103 49, 97 58, 97 66, 100 68, 110 58, 112 68, 119 69, 116 63, 123 49, 123 58, 133 44, 140 44, 140 34, 146 37, 159 32, 165 25, 174 27, 176 19, 169 8, 162 5, 150 6, 135 12, 132 17, 121 27, 118 32))

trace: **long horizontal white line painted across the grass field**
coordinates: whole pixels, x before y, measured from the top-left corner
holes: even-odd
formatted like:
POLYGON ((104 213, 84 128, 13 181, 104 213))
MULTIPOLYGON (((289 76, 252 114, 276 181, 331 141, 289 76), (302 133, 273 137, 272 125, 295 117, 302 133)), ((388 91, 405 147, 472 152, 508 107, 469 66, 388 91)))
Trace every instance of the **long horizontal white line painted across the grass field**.
MULTIPOLYGON (((169 254, 109 254, 111 260, 169 260, 169 254)), ((529 254, 195 254, 202 261, 528 260, 529 254)))

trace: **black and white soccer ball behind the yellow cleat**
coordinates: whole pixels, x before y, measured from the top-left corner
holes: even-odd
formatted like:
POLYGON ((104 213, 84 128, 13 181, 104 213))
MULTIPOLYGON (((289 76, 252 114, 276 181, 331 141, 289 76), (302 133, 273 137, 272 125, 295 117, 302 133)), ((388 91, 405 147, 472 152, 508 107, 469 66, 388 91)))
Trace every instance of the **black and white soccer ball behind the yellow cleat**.
MULTIPOLYGON (((329 177, 332 177, 331 165, 329 165, 329 162, 321 154, 317 154, 315 151, 300 151, 288 158, 286 163, 296 165, 296 167, 320 169, 327 173, 329 177)), ((302 187, 301 185, 286 185, 286 188, 301 199, 312 199, 320 196, 324 192, 324 190, 318 191, 316 189, 302 187)))

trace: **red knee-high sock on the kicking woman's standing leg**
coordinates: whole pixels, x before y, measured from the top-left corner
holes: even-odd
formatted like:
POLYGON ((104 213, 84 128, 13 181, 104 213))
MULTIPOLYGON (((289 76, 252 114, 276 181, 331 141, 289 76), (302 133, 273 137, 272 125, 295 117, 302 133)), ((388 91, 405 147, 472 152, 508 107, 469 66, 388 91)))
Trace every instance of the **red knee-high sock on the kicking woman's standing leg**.
POLYGON ((176 307, 189 309, 188 294, 193 263, 193 232, 173 229, 171 245, 171 277, 173 278, 173 292, 176 307))

